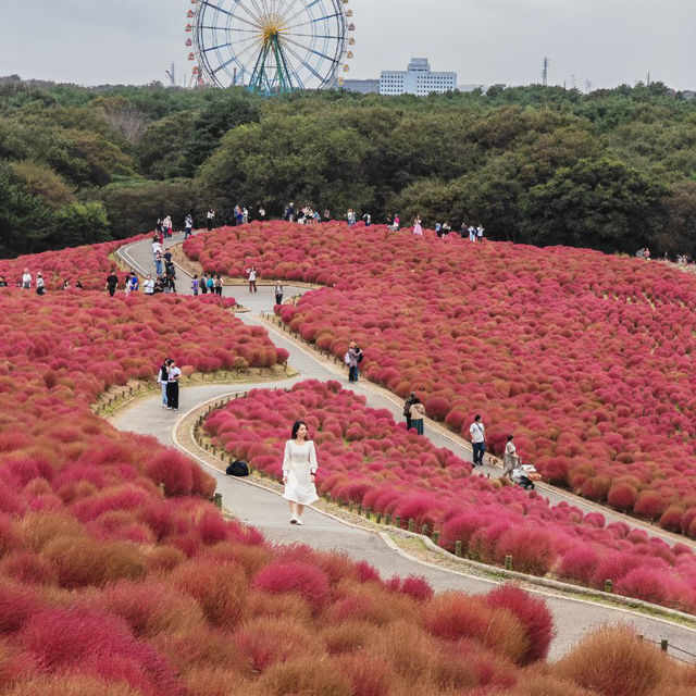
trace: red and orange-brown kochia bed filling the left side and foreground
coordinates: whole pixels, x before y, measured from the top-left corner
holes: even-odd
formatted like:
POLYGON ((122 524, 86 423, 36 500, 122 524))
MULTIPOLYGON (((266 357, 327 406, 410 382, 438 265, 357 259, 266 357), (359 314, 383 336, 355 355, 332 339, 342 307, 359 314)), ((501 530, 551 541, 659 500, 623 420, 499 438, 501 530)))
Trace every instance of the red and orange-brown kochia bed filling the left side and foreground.
MULTIPOLYGON (((192 358, 162 314, 191 322, 197 355, 227 364, 217 344, 245 334, 220 307, 201 310, 214 340, 175 298, 0 294, 0 692, 455 696, 527 693, 540 679, 577 693, 577 666, 568 678, 522 669, 552 635, 548 608, 524 593, 442 600, 422 579, 385 582, 364 562, 272 547, 206 500, 214 481, 194 462, 88 410, 122 373, 151 375, 164 348, 192 358), (443 616, 449 604, 465 624, 443 616)), ((693 685, 664 660, 652 657, 655 688, 693 685)), ((611 657, 604 664, 612 672, 611 657)))

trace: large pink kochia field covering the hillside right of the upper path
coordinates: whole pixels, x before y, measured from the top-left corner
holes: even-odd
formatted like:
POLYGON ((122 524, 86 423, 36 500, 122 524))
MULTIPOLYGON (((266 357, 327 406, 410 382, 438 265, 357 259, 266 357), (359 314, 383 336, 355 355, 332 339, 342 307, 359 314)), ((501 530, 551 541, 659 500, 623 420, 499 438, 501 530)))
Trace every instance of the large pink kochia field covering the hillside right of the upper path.
POLYGON ((331 223, 254 223, 185 244, 207 271, 327 286, 291 331, 546 480, 696 538, 696 277, 570 248, 472 245, 331 223), (650 497, 646 496, 650 493, 650 497), (664 515, 664 519, 662 517, 664 515))

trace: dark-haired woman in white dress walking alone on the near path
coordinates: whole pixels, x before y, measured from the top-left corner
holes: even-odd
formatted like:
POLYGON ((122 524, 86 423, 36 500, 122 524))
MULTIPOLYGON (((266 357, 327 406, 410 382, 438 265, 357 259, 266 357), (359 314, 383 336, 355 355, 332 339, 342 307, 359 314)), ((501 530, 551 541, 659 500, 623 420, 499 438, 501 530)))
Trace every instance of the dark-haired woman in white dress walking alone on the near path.
POLYGON ((314 486, 318 468, 314 443, 307 439, 307 423, 297 421, 283 457, 283 497, 290 504, 290 524, 302 524, 304 506, 319 500, 314 486))

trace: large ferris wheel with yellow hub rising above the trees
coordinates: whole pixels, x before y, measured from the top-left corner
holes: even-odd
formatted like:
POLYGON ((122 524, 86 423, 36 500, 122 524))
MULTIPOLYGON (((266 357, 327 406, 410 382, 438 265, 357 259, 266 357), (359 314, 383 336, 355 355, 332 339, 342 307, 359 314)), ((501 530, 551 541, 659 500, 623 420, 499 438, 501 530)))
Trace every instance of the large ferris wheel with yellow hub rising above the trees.
POLYGON ((190 1, 186 45, 197 84, 274 95, 337 87, 350 71, 348 0, 190 1))

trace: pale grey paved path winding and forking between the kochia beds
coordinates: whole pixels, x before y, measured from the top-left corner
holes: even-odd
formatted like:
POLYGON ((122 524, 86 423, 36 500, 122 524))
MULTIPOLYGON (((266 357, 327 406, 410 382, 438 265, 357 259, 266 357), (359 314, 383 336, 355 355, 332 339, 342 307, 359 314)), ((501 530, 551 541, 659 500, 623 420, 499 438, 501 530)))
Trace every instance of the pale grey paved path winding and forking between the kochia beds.
MULTIPOLYGON (((181 235, 167 240, 166 246, 181 241, 181 235)), ((150 241, 139 241, 119 251, 121 259, 140 273, 150 273, 152 269, 152 253, 150 241)), ((177 270, 177 287, 181 294, 190 294, 190 277, 181 269, 177 270)), ((286 298, 306 291, 303 288, 285 285, 286 298)), ((246 285, 226 286, 223 294, 227 297, 236 297, 240 304, 250 311, 237 314, 238 319, 250 325, 263 325, 269 331, 276 346, 289 351, 289 362, 299 371, 299 375, 278 380, 277 382, 263 381, 258 384, 225 385, 220 383, 182 389, 181 411, 196 411, 202 405, 214 402, 235 393, 246 391, 251 388, 279 388, 290 387, 293 384, 315 378, 320 381, 340 380, 344 388, 350 388, 368 399, 368 406, 372 408, 386 408, 395 418, 401 420, 401 403, 396 397, 383 389, 368 383, 349 384, 343 365, 334 365, 318 358, 316 353, 299 341, 291 339, 284 332, 262 321, 261 312, 271 312, 274 306, 273 285, 259 284, 257 294, 249 294, 246 285)), ((173 346, 175 352, 175 346, 173 346)), ((364 560, 374 566, 383 576, 422 575, 436 592, 447 589, 460 589, 467 593, 481 593, 495 587, 499 582, 487 577, 481 577, 473 573, 449 570, 432 563, 420 561, 409 554, 398 549, 395 545, 388 545, 384 540, 384 534, 364 530, 340 521, 318 510, 308 509, 304 515, 304 526, 290 525, 287 502, 276 492, 262 487, 247 480, 236 480, 225 476, 210 459, 200 456, 200 452, 191 450, 190 443, 179 444, 175 431, 177 424, 185 421, 187 415, 178 420, 169 410, 161 408, 161 397, 153 395, 136 402, 130 408, 117 413, 112 423, 122 431, 153 435, 161 443, 175 446, 196 457, 203 465, 209 468, 217 481, 217 492, 222 494, 224 506, 236 518, 245 523, 259 529, 273 543, 290 544, 303 543, 320 550, 344 552, 355 560, 364 560)), ((426 427, 426 436, 437 447, 447 447, 457 456, 471 460, 470 447, 453 434, 442 427, 426 427)), ((499 470, 486 467, 484 474, 498 475, 499 470)), ((554 490, 539 490, 552 502, 568 499, 562 494, 554 490), (555 500, 556 498, 556 500, 555 500)), ((583 507, 574 499, 573 505, 583 507)), ((596 506, 586 506, 589 510, 601 510, 611 519, 611 511, 596 506)), ((617 519, 639 529, 646 529, 650 534, 662 536, 669 543, 674 543, 672 535, 662 535, 650 525, 641 525, 624 515, 616 515, 617 519)), ((681 539, 684 543, 684 539, 681 539)), ((495 569, 492 569, 495 570, 495 569)), ((579 599, 562 596, 549 589, 527 587, 530 592, 542 595, 554 612, 557 636, 554 639, 550 659, 557 659, 568 651, 586 632, 604 623, 629 623, 646 639, 660 643, 668 641, 670 654, 678 658, 684 658, 679 648, 688 648, 696 642, 696 629, 671 622, 667 619, 648 617, 632 611, 630 608, 607 606, 592 599, 579 599)), ((692 625, 696 625, 694 622, 692 625)))

